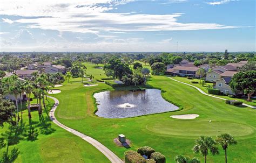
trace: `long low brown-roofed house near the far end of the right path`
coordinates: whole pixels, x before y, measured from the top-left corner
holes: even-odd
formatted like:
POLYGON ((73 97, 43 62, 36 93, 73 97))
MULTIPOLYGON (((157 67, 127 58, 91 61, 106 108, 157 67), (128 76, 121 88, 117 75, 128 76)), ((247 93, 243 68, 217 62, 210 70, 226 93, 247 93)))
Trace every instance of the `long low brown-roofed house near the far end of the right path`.
POLYGON ((199 77, 196 72, 199 67, 176 66, 166 70, 166 74, 199 77))

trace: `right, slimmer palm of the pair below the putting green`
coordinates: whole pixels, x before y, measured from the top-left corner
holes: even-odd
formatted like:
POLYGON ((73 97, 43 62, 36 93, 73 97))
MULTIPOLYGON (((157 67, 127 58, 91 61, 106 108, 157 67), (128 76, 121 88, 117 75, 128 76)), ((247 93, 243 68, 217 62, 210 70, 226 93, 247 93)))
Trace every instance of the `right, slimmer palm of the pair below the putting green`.
POLYGON ((227 147, 228 145, 237 144, 237 141, 230 134, 224 133, 217 136, 216 143, 221 145, 223 150, 225 150, 225 162, 227 163, 227 147))

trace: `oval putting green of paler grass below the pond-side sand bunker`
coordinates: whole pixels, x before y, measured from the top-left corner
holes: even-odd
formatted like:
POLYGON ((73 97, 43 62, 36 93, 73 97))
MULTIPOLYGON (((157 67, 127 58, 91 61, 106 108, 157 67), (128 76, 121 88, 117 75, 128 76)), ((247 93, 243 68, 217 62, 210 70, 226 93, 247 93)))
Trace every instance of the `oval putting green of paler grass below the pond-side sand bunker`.
POLYGON ((162 121, 148 124, 146 128, 151 132, 166 136, 185 137, 217 136, 222 133, 230 133, 232 136, 239 137, 254 132, 250 126, 244 124, 218 121, 162 121))

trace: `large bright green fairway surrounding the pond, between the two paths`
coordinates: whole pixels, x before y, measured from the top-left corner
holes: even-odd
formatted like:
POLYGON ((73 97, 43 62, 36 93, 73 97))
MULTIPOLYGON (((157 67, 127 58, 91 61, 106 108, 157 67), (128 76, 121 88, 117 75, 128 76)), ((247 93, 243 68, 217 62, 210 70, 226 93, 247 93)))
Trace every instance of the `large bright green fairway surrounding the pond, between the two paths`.
MULTIPOLYGON (((95 76, 98 78, 103 70, 87 66, 87 74, 89 72, 97 72, 95 76)), ((95 138, 120 158, 123 158, 123 153, 127 150, 113 143, 113 139, 120 133, 132 141, 132 150, 151 146, 166 155, 167 162, 174 162, 178 154, 194 157, 191 148, 194 139, 199 135, 215 137, 221 133, 231 133, 238 140, 238 144, 228 147, 228 160, 256 161, 256 110, 227 105, 223 100, 200 94, 198 90, 172 81, 166 76, 152 76, 149 84, 163 90, 162 96, 179 104, 183 110, 135 118, 106 119, 93 114, 96 104, 92 94, 112 88, 104 83, 97 84, 99 85, 96 87, 83 87, 82 83, 65 82, 63 87, 58 88, 62 93, 52 95, 59 100, 55 115, 61 123, 95 138), (200 116, 196 119, 170 118, 171 115, 181 114, 200 116)), ((203 161, 202 157, 196 156, 203 161)), ((95 158, 98 158, 97 154, 95 158)), ((220 148, 220 155, 209 155, 208 162, 224 162, 223 150, 220 148)))

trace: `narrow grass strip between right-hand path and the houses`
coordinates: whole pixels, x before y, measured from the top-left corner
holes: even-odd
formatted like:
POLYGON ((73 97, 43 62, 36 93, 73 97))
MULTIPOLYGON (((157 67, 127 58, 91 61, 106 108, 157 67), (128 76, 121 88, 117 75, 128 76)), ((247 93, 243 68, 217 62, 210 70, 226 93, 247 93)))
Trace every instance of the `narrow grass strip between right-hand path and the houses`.
MULTIPOLYGON (((188 84, 191 84, 193 86, 196 86, 198 88, 200 88, 201 90, 205 91, 206 93, 208 93, 207 91, 207 85, 209 86, 212 86, 213 84, 212 83, 205 83, 205 86, 203 87, 201 84, 197 84, 197 83, 191 83, 191 81, 200 81, 199 79, 187 79, 186 77, 173 77, 173 79, 176 79, 178 81, 181 81, 181 82, 184 82, 184 83, 188 83, 188 84)), ((249 104, 249 105, 252 105, 252 106, 256 106, 256 99, 255 98, 251 98, 252 101, 251 102, 248 102, 246 101, 247 98, 246 97, 242 97, 242 98, 231 98, 231 97, 228 97, 228 96, 220 96, 220 95, 214 95, 214 96, 218 96, 218 97, 221 97, 221 98, 226 98, 227 100, 238 100, 238 101, 241 101, 243 103, 246 103, 246 104, 249 104)))

